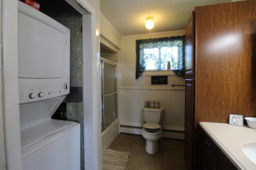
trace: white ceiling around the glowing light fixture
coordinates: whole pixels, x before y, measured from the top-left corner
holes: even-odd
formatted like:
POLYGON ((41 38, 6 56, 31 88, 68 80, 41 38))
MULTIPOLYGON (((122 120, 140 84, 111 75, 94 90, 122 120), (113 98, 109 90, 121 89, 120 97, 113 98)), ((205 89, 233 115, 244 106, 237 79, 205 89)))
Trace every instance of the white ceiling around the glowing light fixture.
POLYGON ((234 2, 239 0, 100 0, 100 12, 122 35, 185 29, 195 6, 234 2), (155 26, 146 29, 148 16, 155 26))

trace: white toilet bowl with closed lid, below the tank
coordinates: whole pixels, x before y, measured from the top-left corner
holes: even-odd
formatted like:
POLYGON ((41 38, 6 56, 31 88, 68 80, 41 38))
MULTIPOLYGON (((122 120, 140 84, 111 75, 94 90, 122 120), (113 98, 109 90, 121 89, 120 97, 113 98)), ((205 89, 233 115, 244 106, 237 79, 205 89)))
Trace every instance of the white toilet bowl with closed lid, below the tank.
POLYGON ((162 137, 162 126, 156 123, 142 125, 142 136, 146 139, 146 151, 154 154, 158 151, 158 140, 162 137))

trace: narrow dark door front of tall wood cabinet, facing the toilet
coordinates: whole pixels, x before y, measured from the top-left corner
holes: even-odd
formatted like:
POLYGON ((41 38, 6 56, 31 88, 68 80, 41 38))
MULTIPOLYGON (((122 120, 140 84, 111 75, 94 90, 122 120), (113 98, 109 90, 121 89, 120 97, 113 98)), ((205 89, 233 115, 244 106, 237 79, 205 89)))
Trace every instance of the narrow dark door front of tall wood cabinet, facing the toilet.
POLYGON ((194 158, 194 12, 186 25, 185 33, 185 142, 184 155, 186 168, 193 167, 194 158))

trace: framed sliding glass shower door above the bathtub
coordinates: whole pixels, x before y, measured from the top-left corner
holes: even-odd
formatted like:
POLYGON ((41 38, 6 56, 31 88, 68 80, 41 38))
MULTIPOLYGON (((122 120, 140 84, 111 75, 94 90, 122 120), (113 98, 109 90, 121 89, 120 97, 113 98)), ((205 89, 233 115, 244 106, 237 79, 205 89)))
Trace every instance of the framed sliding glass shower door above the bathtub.
POLYGON ((101 60, 102 131, 117 118, 116 64, 101 60))

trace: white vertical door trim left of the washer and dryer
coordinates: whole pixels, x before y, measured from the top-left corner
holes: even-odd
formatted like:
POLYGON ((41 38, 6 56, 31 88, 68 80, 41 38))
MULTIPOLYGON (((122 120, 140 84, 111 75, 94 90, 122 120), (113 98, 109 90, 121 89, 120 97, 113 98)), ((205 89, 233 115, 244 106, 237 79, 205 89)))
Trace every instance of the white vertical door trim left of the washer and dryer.
POLYGON ((2 0, 2 94, 8 170, 22 170, 18 100, 17 9, 17 0, 2 0))

